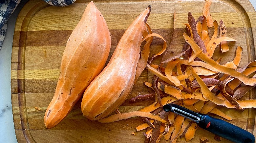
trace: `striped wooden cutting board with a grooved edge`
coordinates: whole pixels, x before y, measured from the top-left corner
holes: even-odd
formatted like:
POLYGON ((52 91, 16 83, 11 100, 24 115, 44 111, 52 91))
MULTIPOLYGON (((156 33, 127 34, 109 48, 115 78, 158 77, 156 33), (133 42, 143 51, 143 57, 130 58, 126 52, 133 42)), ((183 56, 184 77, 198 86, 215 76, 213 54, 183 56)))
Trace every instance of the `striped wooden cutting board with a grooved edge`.
MULTIPOLYGON (((142 119, 134 118, 107 124, 89 121, 80 111, 81 101, 59 125, 50 130, 45 129, 44 113, 54 94, 65 44, 88 2, 77 0, 68 7, 53 7, 40 0, 30 0, 20 11, 15 25, 11 57, 11 100, 18 142, 144 142, 142 132, 145 131, 135 130, 135 127, 142 123, 142 119), (131 132, 135 132, 135 135, 131 135, 131 132)), ((148 24, 153 32, 164 37, 168 46, 173 32, 173 12, 176 10, 176 30, 170 50, 172 53, 169 53, 169 56, 173 56, 181 52, 184 43, 182 33, 185 31, 183 23, 187 23, 187 13, 191 11, 197 19, 203 14, 204 0, 97 0, 95 5, 102 12, 110 29, 111 55, 125 29, 148 5, 152 5, 148 24)), ((217 47, 213 58, 223 57, 221 64, 231 61, 235 56, 236 46, 241 45, 243 58, 239 67, 255 60, 256 12, 250 2, 214 0, 210 12, 214 20, 224 21, 227 37, 237 40, 229 43, 230 50, 226 53, 221 53, 220 47, 217 47)), ((213 28, 210 29, 210 35, 212 33, 213 28)), ((150 56, 159 52, 161 46, 162 41, 155 39, 150 56)), ((159 58, 156 61, 158 60, 159 58)), ((142 72, 128 99, 119 107, 120 112, 136 111, 154 102, 151 100, 129 103, 129 99, 138 94, 153 92, 143 85, 143 81, 152 82, 152 74, 147 70, 142 72)), ((254 89, 242 99, 249 98, 255 99, 254 89)), ((225 107, 218 108, 232 118, 232 124, 256 135, 254 109, 239 112, 225 107)), ((216 142, 214 135, 203 129, 197 130, 191 142, 198 143, 201 137, 216 142)), ((161 142, 168 141, 162 139, 161 142)), ((185 140, 178 139, 178 142, 185 140)), ((223 139, 222 142, 228 141, 223 139)))

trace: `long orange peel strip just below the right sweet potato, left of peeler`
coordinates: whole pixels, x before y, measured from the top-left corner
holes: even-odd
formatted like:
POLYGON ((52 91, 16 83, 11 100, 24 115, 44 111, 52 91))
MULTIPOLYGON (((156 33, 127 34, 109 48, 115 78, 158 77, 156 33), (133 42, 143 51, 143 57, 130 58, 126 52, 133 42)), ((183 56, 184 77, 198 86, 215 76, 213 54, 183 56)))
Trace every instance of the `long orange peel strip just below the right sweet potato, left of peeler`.
POLYGON ((157 115, 154 115, 154 114, 151 114, 151 113, 146 113, 146 112, 140 112, 140 111, 114 114, 114 115, 111 115, 107 118, 100 119, 100 120, 98 120, 98 122, 100 122, 100 123, 110 123, 110 122, 115 122, 115 121, 119 121, 119 120, 123 120, 123 119, 129 119, 129 118, 132 118, 132 117, 146 117, 146 118, 149 118, 149 119, 158 120, 162 123, 167 123, 166 120, 160 118, 157 115))

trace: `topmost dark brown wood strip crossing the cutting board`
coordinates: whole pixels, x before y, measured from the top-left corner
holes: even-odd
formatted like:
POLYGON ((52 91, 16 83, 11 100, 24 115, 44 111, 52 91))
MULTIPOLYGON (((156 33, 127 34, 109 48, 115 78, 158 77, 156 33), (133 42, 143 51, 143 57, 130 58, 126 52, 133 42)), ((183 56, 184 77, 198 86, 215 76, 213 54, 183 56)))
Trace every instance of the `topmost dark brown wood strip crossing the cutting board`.
MULTIPOLYGON (((28 31, 28 37, 26 41, 26 46, 65 46, 68 38, 70 37, 73 30, 45 30, 45 31, 28 31)), ((121 29, 110 29, 111 35, 111 45, 116 46, 122 37, 125 30, 121 29)), ((169 45, 169 41, 172 38, 173 29, 152 29, 154 33, 160 34, 169 45)), ((176 28, 175 37, 173 44, 184 43, 184 38, 182 36, 185 32, 185 28, 176 28)), ((213 34, 213 28, 209 29, 210 35, 213 34)), ((18 37, 19 31, 14 32, 14 38, 18 37)), ((245 43, 245 33, 243 27, 227 28, 227 37, 234 38, 238 40, 238 43, 245 43)), ((162 40, 156 38, 153 40, 153 45, 162 44, 162 40)), ((13 46, 18 46, 19 43, 14 39, 13 46)))

